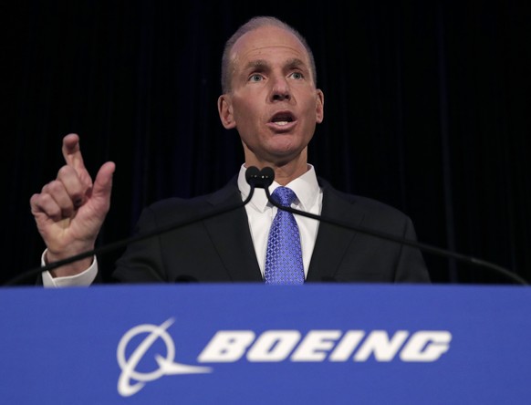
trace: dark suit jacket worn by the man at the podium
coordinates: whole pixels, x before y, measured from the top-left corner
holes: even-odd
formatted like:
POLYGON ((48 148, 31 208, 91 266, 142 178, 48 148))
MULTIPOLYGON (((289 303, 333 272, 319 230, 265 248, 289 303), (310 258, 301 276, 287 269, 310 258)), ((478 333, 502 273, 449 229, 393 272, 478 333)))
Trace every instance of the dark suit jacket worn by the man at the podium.
MULTIPOLYGON (((383 203, 323 188, 322 215, 407 239, 416 235, 410 218, 383 203)), ((256 192, 263 192, 257 189, 256 192)), ((141 213, 137 232, 150 232, 216 208, 241 203, 236 178, 218 192, 168 199, 141 213)), ((262 282, 245 208, 130 244, 114 277, 141 282, 262 282)), ((307 282, 429 282, 419 250, 329 223, 319 223, 307 282)))

